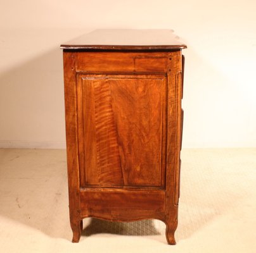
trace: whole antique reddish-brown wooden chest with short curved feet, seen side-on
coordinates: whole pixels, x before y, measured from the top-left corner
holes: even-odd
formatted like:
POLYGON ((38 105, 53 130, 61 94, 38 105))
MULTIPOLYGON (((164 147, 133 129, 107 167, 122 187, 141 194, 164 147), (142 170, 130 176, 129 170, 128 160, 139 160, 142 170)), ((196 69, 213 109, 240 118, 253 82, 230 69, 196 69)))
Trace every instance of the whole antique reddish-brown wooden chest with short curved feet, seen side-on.
POLYGON ((70 225, 160 219, 176 244, 182 58, 171 30, 96 30, 61 45, 70 225))

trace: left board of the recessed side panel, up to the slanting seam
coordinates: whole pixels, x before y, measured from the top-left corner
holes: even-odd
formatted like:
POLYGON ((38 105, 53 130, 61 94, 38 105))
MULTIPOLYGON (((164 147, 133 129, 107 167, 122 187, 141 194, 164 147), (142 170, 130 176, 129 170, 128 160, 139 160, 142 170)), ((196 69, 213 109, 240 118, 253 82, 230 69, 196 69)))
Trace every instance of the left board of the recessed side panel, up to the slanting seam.
POLYGON ((85 166, 80 167, 85 175, 81 185, 124 185, 109 85, 102 77, 80 79, 82 97, 79 100, 84 106, 79 108, 79 121, 84 121, 81 142, 84 140, 85 147, 80 150, 80 154, 85 153, 81 156, 85 159, 82 161, 85 166))

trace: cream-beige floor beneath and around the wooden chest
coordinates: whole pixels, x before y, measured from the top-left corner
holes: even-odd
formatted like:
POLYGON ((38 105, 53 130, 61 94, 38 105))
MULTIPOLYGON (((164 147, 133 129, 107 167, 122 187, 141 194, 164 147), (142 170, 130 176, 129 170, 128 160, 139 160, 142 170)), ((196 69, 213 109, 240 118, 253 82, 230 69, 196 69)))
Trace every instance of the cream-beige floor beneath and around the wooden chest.
POLYGON ((165 225, 84 219, 72 244, 65 150, 0 149, 0 252, 256 252, 256 149, 182 150, 177 245, 165 225))

